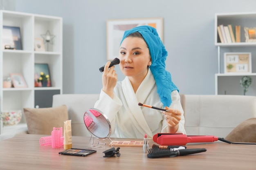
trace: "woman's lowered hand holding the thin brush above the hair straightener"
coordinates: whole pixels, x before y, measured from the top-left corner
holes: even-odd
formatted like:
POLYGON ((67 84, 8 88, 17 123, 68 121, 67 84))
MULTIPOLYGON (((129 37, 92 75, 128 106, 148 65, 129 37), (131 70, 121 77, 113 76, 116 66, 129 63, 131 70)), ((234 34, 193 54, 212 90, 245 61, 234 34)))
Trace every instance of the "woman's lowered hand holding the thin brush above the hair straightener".
POLYGON ((180 110, 168 108, 165 106, 166 111, 163 111, 163 114, 166 118, 166 123, 168 125, 167 132, 175 133, 178 130, 179 123, 181 120, 181 112, 180 110))

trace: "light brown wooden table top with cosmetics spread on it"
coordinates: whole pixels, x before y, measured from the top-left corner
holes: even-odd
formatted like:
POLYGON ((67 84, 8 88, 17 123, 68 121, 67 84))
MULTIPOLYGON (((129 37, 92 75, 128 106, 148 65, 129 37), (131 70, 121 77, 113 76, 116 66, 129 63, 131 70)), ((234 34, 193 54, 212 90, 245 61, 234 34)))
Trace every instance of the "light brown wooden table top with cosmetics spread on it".
MULTIPOLYGON (((96 148, 96 153, 87 157, 59 155, 61 148, 40 146, 39 139, 45 135, 17 135, 0 141, 0 169, 4 170, 122 170, 170 168, 173 170, 255 170, 256 145, 213 143, 187 144, 187 148, 206 148, 206 152, 179 157, 150 159, 142 147, 120 146, 120 157, 103 157, 103 151, 111 147, 106 144, 96 148)), ((111 138, 112 140, 128 140, 111 138)), ((133 140, 133 139, 132 139, 133 140)), ((141 141, 142 139, 134 139, 141 141)), ((153 141, 149 140, 149 148, 153 141)), ((72 148, 86 149, 90 137, 72 137, 72 148)), ((117 146, 115 146, 117 148, 117 146)))

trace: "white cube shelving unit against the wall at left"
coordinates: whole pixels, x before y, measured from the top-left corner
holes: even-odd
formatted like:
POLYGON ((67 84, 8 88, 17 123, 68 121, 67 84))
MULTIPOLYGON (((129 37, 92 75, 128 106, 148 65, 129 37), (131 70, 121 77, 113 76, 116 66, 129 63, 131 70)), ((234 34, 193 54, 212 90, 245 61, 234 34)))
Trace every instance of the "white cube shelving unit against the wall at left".
POLYGON ((22 50, 3 49, 0 29, 0 110, 22 110, 24 107, 51 107, 52 95, 62 94, 62 18, 0 10, 0 27, 20 27, 22 50), (48 51, 34 51, 35 38, 49 30, 55 35, 48 51), (51 87, 34 86, 34 64, 47 63, 51 87), (27 88, 3 88, 4 77, 21 73, 27 88), (47 103, 48 102, 48 103, 47 103))

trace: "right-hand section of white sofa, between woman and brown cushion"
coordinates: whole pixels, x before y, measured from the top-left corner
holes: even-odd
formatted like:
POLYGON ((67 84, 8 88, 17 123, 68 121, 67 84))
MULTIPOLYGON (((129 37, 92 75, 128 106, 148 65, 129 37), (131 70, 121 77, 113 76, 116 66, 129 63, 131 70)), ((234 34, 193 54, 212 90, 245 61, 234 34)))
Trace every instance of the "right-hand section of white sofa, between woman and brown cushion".
POLYGON ((256 96, 186 95, 187 135, 226 137, 241 122, 256 117, 256 96))

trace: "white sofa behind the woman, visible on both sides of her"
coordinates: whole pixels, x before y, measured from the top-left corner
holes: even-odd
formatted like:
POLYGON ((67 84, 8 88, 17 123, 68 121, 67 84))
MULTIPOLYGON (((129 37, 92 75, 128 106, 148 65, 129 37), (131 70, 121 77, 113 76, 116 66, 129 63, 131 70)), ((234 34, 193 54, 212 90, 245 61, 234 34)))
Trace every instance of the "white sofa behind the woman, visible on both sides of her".
MULTIPOLYGON (((182 95, 187 135, 226 137, 242 121, 256 117, 256 97, 243 95, 182 95)), ((83 122, 99 94, 54 95, 52 106, 65 104, 72 119, 72 135, 90 136, 83 122)))

